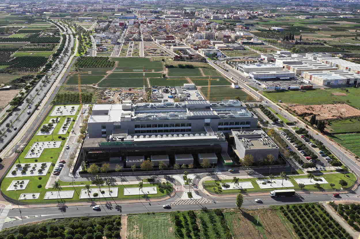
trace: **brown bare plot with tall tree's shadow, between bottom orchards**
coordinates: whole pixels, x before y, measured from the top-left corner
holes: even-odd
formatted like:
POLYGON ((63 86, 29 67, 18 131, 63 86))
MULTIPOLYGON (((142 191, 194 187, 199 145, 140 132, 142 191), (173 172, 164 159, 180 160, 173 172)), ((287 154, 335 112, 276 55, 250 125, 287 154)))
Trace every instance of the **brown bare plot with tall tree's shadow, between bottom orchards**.
POLYGON ((238 239, 260 239, 260 238, 297 238, 291 227, 284 225, 276 211, 244 210, 242 213, 232 211, 226 214, 228 225, 232 225, 234 238, 238 239), (259 222, 257 224, 257 216, 259 222), (269 220, 271 219, 271 220, 269 220))

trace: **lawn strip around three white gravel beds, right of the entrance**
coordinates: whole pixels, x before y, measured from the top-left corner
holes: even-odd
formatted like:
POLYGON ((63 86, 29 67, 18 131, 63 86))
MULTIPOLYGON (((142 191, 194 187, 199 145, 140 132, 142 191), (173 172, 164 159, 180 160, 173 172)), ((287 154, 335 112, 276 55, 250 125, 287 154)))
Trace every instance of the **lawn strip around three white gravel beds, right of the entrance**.
MULTIPOLYGON (((352 173, 335 173, 335 174, 322 174, 322 175, 315 175, 315 177, 323 177, 326 181, 328 181, 328 184, 320 184, 321 185, 321 189, 316 188, 314 185, 305 185, 305 188, 303 188, 303 191, 321 191, 321 190, 332 190, 333 188, 330 187, 330 183, 334 183, 334 189, 339 190, 341 188, 341 185, 339 184, 339 180, 343 179, 345 181, 347 181, 348 188, 351 188, 352 185, 354 185, 355 181, 356 181, 356 177, 354 174, 352 173), (349 177, 346 177, 345 175, 348 175, 349 177)), ((280 178, 280 177, 275 177, 276 178, 280 178)), ((299 175, 299 176, 290 176, 289 180, 292 182, 292 184, 294 185, 294 187, 290 187, 290 188, 277 188, 277 189, 295 189, 295 190, 301 190, 301 188, 298 186, 298 184, 296 183, 296 181, 294 179, 296 178, 307 178, 307 175, 299 175)), ((247 179, 239 179, 239 183, 241 184, 242 181, 250 181, 253 185, 254 188, 250 188, 250 189, 244 189, 243 192, 247 192, 247 193, 251 193, 251 192, 270 192, 272 190, 274 190, 274 188, 269 188, 269 189, 260 189, 259 185, 256 183, 256 180, 258 180, 260 178, 247 178, 247 179)), ((261 178, 261 179, 265 179, 265 178, 261 178)), ((269 179, 269 178, 267 178, 269 179)), ((226 183, 231 183, 232 179, 227 179, 227 180, 222 180, 222 182, 226 182, 226 183)), ((217 185, 215 184, 214 180, 210 180, 210 181, 205 181, 204 182, 204 188, 206 188, 206 190, 208 190, 211 193, 217 193, 217 194, 235 194, 235 193, 239 193, 242 192, 242 190, 239 189, 230 189, 230 190, 222 190, 219 193, 219 190, 217 188, 217 185), (213 189, 215 187, 215 190, 213 189)))

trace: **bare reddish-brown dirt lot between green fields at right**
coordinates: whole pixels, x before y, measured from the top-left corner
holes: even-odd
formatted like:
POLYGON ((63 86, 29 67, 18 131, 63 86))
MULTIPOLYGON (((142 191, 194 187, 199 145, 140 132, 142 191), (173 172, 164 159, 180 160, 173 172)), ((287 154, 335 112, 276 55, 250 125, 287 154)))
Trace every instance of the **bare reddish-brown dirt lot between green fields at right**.
POLYGON ((357 110, 346 104, 298 105, 292 106, 291 108, 297 115, 301 115, 304 113, 311 115, 316 112, 316 119, 319 120, 360 116, 360 110, 357 110))

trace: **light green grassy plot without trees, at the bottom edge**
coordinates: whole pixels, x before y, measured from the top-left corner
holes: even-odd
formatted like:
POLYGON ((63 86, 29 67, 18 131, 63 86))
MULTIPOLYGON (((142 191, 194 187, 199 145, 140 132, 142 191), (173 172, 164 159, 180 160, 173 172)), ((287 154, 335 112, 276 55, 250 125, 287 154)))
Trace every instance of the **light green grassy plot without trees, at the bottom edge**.
POLYGON ((127 217, 128 239, 171 239, 170 213, 131 214, 127 217))

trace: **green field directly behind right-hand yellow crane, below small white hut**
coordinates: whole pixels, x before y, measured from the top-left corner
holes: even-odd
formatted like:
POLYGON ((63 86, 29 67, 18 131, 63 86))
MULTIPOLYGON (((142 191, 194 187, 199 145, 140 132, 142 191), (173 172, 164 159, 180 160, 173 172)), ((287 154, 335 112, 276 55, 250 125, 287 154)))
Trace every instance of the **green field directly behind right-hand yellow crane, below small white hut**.
MULTIPOLYGON (((207 96, 207 86, 201 87, 201 91, 207 96)), ((241 89, 231 88, 231 86, 212 86, 210 92, 210 101, 231 100, 239 96, 240 100, 246 100, 249 96, 241 89)))

